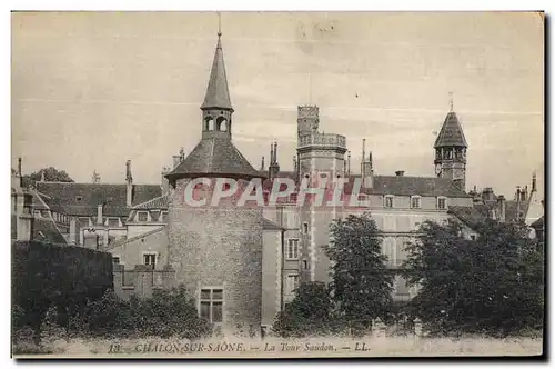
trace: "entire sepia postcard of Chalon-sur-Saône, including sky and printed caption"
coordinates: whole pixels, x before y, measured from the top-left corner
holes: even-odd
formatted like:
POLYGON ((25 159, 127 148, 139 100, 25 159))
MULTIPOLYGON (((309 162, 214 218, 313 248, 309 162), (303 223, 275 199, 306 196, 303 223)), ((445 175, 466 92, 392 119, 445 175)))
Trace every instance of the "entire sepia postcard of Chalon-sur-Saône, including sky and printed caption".
POLYGON ((13 358, 544 353, 544 13, 11 40, 13 358))

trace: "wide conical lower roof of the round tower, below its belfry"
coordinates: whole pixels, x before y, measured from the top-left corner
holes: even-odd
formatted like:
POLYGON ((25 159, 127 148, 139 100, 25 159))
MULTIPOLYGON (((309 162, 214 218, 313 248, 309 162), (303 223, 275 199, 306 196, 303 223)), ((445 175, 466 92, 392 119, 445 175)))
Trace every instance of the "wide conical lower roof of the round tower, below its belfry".
POLYGON ((202 176, 262 178, 229 138, 203 138, 165 177, 170 180, 202 176))

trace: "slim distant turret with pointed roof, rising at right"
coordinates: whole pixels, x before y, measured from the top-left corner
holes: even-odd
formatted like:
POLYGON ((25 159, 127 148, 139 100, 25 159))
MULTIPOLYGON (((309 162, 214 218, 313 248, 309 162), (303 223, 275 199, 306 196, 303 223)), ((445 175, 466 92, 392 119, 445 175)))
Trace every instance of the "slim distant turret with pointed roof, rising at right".
POLYGON ((453 110, 453 97, 450 99, 450 112, 445 117, 442 130, 434 143, 435 173, 448 178, 462 190, 466 186, 466 150, 468 144, 464 138, 463 128, 453 110))

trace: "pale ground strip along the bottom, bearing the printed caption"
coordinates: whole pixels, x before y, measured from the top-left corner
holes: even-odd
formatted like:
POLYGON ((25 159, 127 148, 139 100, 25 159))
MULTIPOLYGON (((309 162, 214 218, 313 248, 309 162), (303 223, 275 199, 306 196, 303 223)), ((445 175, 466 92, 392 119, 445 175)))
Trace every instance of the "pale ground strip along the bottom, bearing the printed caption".
MULTIPOLYGON (((210 339, 190 342, 152 337, 133 340, 58 340, 52 342, 48 350, 52 352, 48 356, 113 358, 536 356, 542 353, 542 338, 366 337, 355 340, 321 337, 297 340, 268 338, 264 341, 210 339)), ((38 352, 32 352, 33 357, 37 355, 38 352)))

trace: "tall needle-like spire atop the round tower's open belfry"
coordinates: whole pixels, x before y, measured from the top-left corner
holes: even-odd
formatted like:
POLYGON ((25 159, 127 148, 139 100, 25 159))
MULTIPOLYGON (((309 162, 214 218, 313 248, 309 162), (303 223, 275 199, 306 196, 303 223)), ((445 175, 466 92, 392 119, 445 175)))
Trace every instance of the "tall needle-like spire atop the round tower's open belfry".
POLYGON ((206 88, 206 96, 201 109, 222 108, 233 110, 231 107, 230 90, 223 62, 221 33, 218 33, 218 44, 215 47, 214 61, 210 72, 210 80, 206 88))

